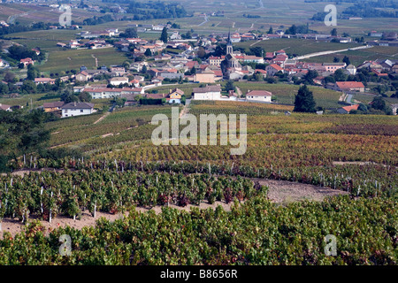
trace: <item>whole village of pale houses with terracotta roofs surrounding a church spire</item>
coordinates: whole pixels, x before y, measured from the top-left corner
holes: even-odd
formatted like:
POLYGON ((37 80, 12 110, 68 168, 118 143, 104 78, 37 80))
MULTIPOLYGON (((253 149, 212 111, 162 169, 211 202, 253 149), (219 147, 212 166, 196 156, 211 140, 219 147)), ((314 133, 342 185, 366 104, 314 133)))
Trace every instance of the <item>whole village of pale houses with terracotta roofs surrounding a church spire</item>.
MULTIPOLYGON (((64 50, 113 48, 125 52, 131 60, 123 65, 102 65, 96 69, 82 65, 78 72, 69 73, 65 70, 68 73, 65 76, 53 75, 49 78, 37 75, 33 80, 34 84, 37 88, 44 89, 45 85, 54 85, 62 81, 73 89, 75 95, 87 93, 91 99, 119 97, 123 99, 123 106, 137 104, 140 99, 154 99, 157 100, 156 103, 179 104, 185 103, 187 96, 192 96, 193 100, 275 103, 272 101, 272 92, 265 89, 248 90, 243 94, 239 88, 223 89, 221 82, 256 80, 272 83, 273 80, 282 78, 287 84, 310 82, 311 85, 319 88, 342 92, 343 101, 348 100, 347 106, 341 107, 337 112, 348 113, 359 106, 358 103, 352 103, 348 99, 350 94, 369 92, 362 81, 357 81, 358 71, 366 70, 367 73, 386 79, 389 74, 396 76, 398 73, 398 60, 380 58, 375 61, 365 61, 361 65, 350 64, 349 58, 346 62, 307 63, 302 62, 299 57, 291 55, 289 57, 285 50, 275 52, 261 50, 258 54, 261 56, 256 56, 233 49, 233 44, 237 42, 251 41, 254 45, 256 42, 272 41, 274 38, 302 38, 344 43, 351 42, 350 37, 327 34, 285 34, 282 30, 261 35, 230 31, 224 35, 199 37, 198 34, 190 32, 187 34, 180 34, 178 31, 167 33, 171 27, 172 23, 169 22, 165 25, 130 25, 125 32, 119 31, 118 28, 88 32, 79 31, 80 27, 73 25, 69 28, 79 31, 76 34, 78 38, 70 42, 57 42, 57 47, 64 50), (164 38, 144 40, 138 37, 137 30, 162 31, 164 38), (131 34, 134 37, 128 37, 131 34), (337 74, 346 76, 348 80, 334 80, 337 74), (179 89, 179 85, 183 84, 193 84, 193 92, 184 93, 179 89), (170 85, 167 93, 152 90, 167 85, 170 85)), ((371 35, 387 38, 387 44, 393 45, 397 39, 396 33, 373 32, 371 35)), ((374 41, 371 45, 378 42, 380 45, 386 44, 383 41, 374 41)), ((366 43, 359 48, 371 48, 371 46, 366 43)), ((37 55, 41 52, 40 49, 33 49, 33 51, 37 55)), ((35 63, 30 57, 22 58, 19 68, 29 68, 35 63)), ((0 67, 9 68, 9 65, 0 59, 0 67)), ((7 84, 7 82, 3 83, 7 84)), ((23 82, 16 82, 15 85, 21 87, 23 82)), ((396 115, 397 104, 391 107, 396 115)), ((94 103, 86 101, 44 103, 42 108, 45 111, 57 111, 63 118, 88 115, 95 111, 94 103)), ((1 109, 11 110, 11 106, 3 104, 1 109)))

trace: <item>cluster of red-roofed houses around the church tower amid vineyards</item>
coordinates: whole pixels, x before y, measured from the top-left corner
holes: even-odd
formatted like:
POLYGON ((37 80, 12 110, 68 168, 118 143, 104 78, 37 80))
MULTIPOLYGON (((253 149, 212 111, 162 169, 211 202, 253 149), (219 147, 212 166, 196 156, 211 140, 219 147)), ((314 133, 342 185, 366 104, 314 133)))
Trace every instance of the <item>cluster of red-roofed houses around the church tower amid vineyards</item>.
MULTIPOLYGON (((150 27, 142 25, 145 30, 152 29, 161 31, 166 25, 150 25, 150 27)), ((137 27, 139 28, 139 27, 137 27)), ((74 27, 79 29, 79 27, 74 27)), ((136 103, 135 98, 141 96, 144 98, 164 99, 168 103, 180 103, 180 99, 184 96, 184 92, 179 88, 170 89, 168 93, 149 94, 150 88, 156 88, 162 85, 166 80, 188 81, 205 83, 204 88, 194 88, 192 98, 194 100, 219 100, 219 101, 246 101, 246 102, 261 102, 271 103, 272 93, 265 90, 252 90, 244 97, 238 96, 233 91, 228 94, 222 94, 220 85, 216 83, 220 80, 244 80, 245 78, 259 74, 266 77, 273 77, 277 73, 285 73, 290 80, 294 77, 301 78, 310 70, 318 72, 318 77, 314 82, 319 86, 330 88, 336 91, 345 93, 349 92, 364 92, 365 87, 362 82, 356 81, 338 81, 335 83, 326 83, 325 78, 338 70, 344 73, 355 75, 357 69, 367 68, 370 72, 376 73, 378 76, 388 76, 388 73, 397 73, 398 60, 375 60, 366 61, 364 64, 355 66, 347 65, 346 63, 305 63, 289 58, 285 50, 278 50, 276 52, 265 52, 261 57, 246 55, 240 51, 233 50, 233 43, 249 40, 269 40, 278 37, 290 37, 291 34, 284 34, 283 31, 277 31, 276 34, 265 34, 263 36, 256 36, 255 34, 231 34, 227 37, 210 35, 208 38, 201 38, 202 46, 192 44, 192 41, 198 42, 195 39, 196 35, 192 34, 193 39, 183 40, 178 32, 174 32, 170 36, 169 42, 161 42, 158 40, 147 41, 141 38, 122 38, 111 44, 103 40, 103 36, 118 35, 118 29, 107 29, 98 32, 80 32, 80 40, 73 40, 68 43, 58 42, 60 47, 70 49, 97 49, 114 46, 120 51, 130 52, 132 57, 148 57, 148 50, 150 50, 151 60, 136 60, 136 62, 128 66, 111 65, 111 67, 101 66, 97 69, 88 69, 85 66, 80 67, 80 72, 69 76, 59 78, 60 80, 86 82, 86 86, 75 86, 75 93, 88 92, 94 99, 103 99, 111 97, 126 98, 126 105, 136 103), (210 56, 206 60, 198 60, 196 52, 203 48, 204 52, 210 54, 217 48, 217 43, 226 43, 226 54, 220 57, 210 56), (173 52, 165 52, 165 50, 173 52), (170 55, 170 54, 173 55, 170 55), (266 64, 264 69, 253 69, 247 63, 266 64), (142 75, 137 73, 142 72, 145 68, 146 74, 149 75, 149 80, 145 80, 142 75), (96 81, 96 76, 107 75, 110 77, 107 85, 94 85, 88 83, 96 81)), ((349 42, 348 39, 338 38, 336 36, 326 34, 295 34, 295 37, 317 39, 318 41, 338 40, 340 42, 349 42), (301 37, 302 36, 302 37, 301 37)), ((197 38, 197 37, 196 37, 197 38)), ((40 50, 37 50, 40 52, 40 50)), ((27 66, 34 65, 32 58, 24 58, 20 63, 27 66)), ((0 59, 0 66, 2 60, 0 59)), ((34 79, 36 85, 39 84, 55 84, 56 79, 51 78, 36 78, 34 79)), ((10 111, 10 107, 5 109, 7 105, 0 105, 2 110, 10 111)), ((355 105, 354 105, 355 106, 355 105)), ((351 106, 348 106, 351 107, 351 106)), ((44 103, 45 111, 60 111, 61 116, 72 117, 79 115, 87 115, 93 113, 94 104, 92 103, 44 103)), ((342 109, 341 112, 349 112, 351 109, 342 109)))

